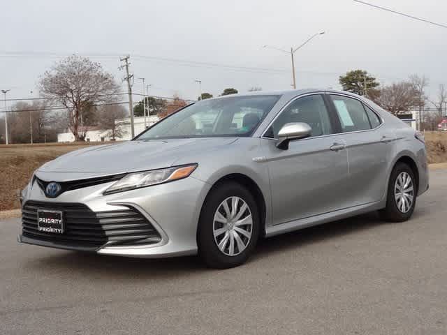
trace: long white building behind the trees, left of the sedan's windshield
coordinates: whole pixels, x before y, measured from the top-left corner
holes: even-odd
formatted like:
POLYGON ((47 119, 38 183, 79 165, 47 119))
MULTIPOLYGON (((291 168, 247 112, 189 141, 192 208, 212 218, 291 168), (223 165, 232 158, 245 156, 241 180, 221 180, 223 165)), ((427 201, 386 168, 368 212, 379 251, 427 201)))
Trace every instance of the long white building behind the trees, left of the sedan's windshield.
MULTIPOLYGON (((146 117, 146 126, 152 126, 159 121, 159 117, 152 115, 146 117)), ((131 118, 117 119, 115 120, 117 128, 119 128, 120 136, 116 136, 117 141, 131 140, 131 118)), ((145 130, 145 117, 134 117, 133 118, 133 128, 135 129, 135 135, 138 135, 145 130)), ((85 133, 85 140, 87 142, 105 142, 111 140, 112 131, 110 129, 101 129, 99 127, 89 127, 85 133)), ((71 131, 66 133, 57 134, 57 142, 75 142, 75 136, 71 131)))

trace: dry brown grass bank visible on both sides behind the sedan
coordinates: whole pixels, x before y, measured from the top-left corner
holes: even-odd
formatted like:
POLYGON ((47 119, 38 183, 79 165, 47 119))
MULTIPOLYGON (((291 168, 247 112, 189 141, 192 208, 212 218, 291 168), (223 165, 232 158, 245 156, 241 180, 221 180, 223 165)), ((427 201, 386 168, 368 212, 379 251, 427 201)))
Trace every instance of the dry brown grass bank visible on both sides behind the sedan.
MULTIPOLYGON (((427 132, 425 143, 428 162, 444 163, 433 165, 432 168, 447 167, 447 132, 427 132)), ((0 144, 0 211, 20 207, 20 190, 27 184, 34 170, 43 163, 68 151, 95 144, 104 143, 0 144)))

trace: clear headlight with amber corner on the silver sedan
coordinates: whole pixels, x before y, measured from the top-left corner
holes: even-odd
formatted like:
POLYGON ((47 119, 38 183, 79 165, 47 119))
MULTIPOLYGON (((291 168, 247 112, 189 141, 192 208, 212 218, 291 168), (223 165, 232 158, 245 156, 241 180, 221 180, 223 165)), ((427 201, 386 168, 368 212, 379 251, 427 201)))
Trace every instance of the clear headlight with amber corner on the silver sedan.
POLYGON ((129 173, 105 190, 103 194, 128 191, 135 188, 142 188, 167 183, 168 181, 183 179, 188 177, 194 170, 196 170, 196 168, 197 164, 194 163, 175 166, 173 168, 129 173))

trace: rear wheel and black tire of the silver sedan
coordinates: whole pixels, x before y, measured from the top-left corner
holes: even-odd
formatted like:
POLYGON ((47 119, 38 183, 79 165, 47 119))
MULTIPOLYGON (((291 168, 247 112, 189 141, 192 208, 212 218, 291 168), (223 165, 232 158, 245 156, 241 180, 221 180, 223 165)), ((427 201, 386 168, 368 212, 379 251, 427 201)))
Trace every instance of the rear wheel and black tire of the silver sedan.
POLYGON ((391 172, 390 181, 388 183, 386 207, 379 211, 381 218, 388 222, 404 222, 409 220, 416 205, 417 194, 418 187, 416 185, 416 178, 414 177, 413 170, 411 170, 409 165, 406 165, 405 163, 397 163, 393 168, 393 172, 391 172), (404 192, 408 195, 402 195, 399 198, 399 193, 402 194, 402 192, 400 192, 400 189, 397 188, 397 185, 400 185, 403 181, 406 182, 408 180, 404 179, 404 176, 408 176, 411 179, 411 181, 409 181, 409 186, 406 186, 405 190, 409 190, 412 187, 412 191, 404 192), (400 181, 397 181, 398 178, 401 178, 400 181), (397 194, 395 192, 397 192, 397 194), (402 207, 403 202, 405 203, 402 207), (409 202, 411 202, 410 205, 409 202))

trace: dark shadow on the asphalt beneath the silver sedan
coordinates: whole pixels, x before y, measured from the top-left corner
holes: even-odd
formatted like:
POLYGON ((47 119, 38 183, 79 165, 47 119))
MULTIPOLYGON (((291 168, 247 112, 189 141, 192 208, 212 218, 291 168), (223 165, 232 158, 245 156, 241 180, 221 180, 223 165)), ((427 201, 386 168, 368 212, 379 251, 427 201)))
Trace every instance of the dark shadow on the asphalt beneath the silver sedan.
MULTIPOLYGON (((423 209, 415 211, 413 218, 423 216, 423 209)), ((384 223, 378 214, 369 213, 340 221, 333 221, 295 232, 281 234, 258 243, 251 262, 261 262, 263 256, 284 253, 307 244, 326 239, 335 239, 346 234, 353 234, 361 230, 373 229, 378 225, 400 224, 384 223)), ((402 223, 405 224, 405 223, 402 223)), ((91 278, 101 276, 138 278, 172 278, 173 276, 190 275, 200 271, 219 271, 207 269, 198 256, 179 258, 148 259, 125 258, 112 255, 98 255, 96 253, 82 253, 78 251, 52 251, 50 255, 34 257, 27 263, 28 267, 40 271, 54 271, 54 269, 69 272, 79 271, 91 278)))

